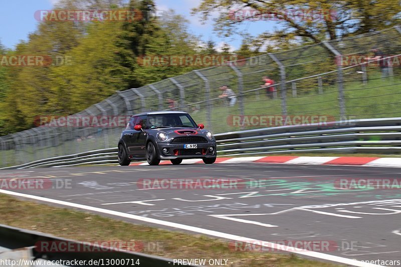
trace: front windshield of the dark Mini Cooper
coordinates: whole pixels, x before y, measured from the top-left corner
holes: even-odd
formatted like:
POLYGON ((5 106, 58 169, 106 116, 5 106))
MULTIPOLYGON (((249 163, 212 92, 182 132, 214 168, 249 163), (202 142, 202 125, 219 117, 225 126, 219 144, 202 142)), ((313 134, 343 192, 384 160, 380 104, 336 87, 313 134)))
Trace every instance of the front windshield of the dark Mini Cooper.
POLYGON ((148 115, 149 129, 170 128, 170 127, 193 127, 196 128, 195 122, 188 114, 171 113, 171 114, 153 114, 148 115))

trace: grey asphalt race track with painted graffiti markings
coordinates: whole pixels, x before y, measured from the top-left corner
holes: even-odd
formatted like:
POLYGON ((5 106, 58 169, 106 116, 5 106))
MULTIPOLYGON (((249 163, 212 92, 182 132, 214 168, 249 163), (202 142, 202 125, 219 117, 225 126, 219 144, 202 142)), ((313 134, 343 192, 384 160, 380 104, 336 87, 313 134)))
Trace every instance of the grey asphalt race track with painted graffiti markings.
MULTIPOLYGON (((70 181, 68 188, 14 192, 134 223, 227 239, 328 240, 329 251, 310 255, 346 263, 401 260, 401 191, 344 189, 336 186, 339 179, 398 179, 400 174, 399 168, 251 163, 5 170, 0 178, 58 179, 60 187, 60 181, 70 181), (151 189, 141 180, 176 178, 240 183, 151 189), (247 182, 255 180, 262 182, 247 182)), ((10 191, 0 190, 16 195, 10 191)))

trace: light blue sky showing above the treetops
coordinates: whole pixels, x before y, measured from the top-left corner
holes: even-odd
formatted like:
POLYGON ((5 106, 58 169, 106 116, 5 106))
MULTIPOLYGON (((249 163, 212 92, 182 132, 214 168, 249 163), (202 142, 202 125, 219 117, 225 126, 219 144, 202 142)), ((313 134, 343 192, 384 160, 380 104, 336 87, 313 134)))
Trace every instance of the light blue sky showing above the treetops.
MULTIPOLYGON (((39 10, 51 10, 56 2, 57 0, 1 0, 0 10, 3 14, 0 16, 0 43, 6 48, 14 49, 20 40, 28 40, 28 35, 37 29, 39 23, 35 20, 34 13, 39 10)), ((202 41, 214 41, 217 49, 224 43, 229 44, 232 50, 239 49, 242 40, 240 36, 219 37, 213 30, 212 20, 203 25, 199 15, 191 16, 191 9, 200 2, 200 0, 155 0, 158 11, 173 9, 175 13, 189 20, 189 32, 200 36, 202 41)), ((265 31, 271 31, 274 26, 273 22, 244 22, 239 29, 257 36, 265 31)))

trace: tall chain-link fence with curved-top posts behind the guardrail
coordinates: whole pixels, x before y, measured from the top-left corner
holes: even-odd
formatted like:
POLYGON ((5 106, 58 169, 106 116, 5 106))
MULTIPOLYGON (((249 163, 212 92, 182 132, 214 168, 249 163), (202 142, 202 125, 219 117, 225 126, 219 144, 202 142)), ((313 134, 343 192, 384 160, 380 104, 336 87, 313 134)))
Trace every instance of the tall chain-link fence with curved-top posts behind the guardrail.
MULTIPOLYGON (((123 117, 180 110, 214 133, 281 126, 295 118, 310 122, 305 119, 310 116, 329 121, 399 117, 400 36, 401 28, 394 27, 192 71, 117 92, 74 116, 123 117), (381 51, 392 64, 361 64, 360 59, 370 57, 372 49, 381 51), (262 87, 264 76, 275 84, 262 87), (235 104, 219 97, 222 86, 234 91, 235 104)), ((123 128, 121 123, 41 126, 3 136, 0 167, 115 147, 123 128)))

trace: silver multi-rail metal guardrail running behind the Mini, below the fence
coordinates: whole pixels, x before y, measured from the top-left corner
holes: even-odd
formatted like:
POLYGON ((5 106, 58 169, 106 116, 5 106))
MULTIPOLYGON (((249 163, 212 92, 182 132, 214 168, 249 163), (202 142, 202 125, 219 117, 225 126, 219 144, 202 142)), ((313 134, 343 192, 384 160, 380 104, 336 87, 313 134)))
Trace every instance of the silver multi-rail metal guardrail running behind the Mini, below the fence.
MULTIPOLYGON (((218 155, 302 152, 401 153, 401 118, 280 126, 215 135, 218 155)), ((48 158, 3 169, 118 163, 117 148, 48 158)))

